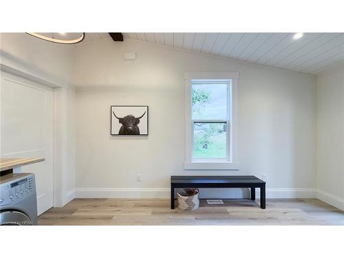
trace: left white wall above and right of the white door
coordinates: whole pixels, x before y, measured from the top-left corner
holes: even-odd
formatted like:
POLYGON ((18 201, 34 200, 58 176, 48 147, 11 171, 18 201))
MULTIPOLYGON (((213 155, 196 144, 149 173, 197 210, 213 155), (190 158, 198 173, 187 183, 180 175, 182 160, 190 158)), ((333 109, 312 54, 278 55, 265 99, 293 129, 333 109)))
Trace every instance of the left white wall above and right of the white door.
MULTIPOLYGON (((54 205, 63 206, 74 195, 74 135, 70 87, 74 47, 36 39, 25 33, 0 34, 0 63, 54 89, 54 205)), ((6 68, 7 69, 7 68, 6 68)), ((12 70, 10 72, 12 72, 12 70)), ((17 74, 18 75, 18 74, 17 74)))

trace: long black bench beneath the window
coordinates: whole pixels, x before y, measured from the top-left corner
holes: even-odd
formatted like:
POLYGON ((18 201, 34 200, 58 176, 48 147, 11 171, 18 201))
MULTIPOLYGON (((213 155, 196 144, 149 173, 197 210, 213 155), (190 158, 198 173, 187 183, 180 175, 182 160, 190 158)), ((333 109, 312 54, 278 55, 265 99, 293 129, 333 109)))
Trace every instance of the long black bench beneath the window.
POLYGON ((251 200, 255 200, 255 189, 260 188, 260 207, 265 208, 265 185, 254 175, 171 175, 171 209, 176 188, 250 188, 251 200))

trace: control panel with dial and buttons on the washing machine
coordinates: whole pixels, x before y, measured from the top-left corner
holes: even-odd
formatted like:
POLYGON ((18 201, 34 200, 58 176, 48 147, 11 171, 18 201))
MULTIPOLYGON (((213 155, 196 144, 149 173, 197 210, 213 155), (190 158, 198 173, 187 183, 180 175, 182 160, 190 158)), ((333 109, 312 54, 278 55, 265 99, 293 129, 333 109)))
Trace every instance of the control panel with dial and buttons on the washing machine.
POLYGON ((23 200, 36 191, 34 174, 12 175, 12 178, 1 181, 0 190, 0 206, 23 200))

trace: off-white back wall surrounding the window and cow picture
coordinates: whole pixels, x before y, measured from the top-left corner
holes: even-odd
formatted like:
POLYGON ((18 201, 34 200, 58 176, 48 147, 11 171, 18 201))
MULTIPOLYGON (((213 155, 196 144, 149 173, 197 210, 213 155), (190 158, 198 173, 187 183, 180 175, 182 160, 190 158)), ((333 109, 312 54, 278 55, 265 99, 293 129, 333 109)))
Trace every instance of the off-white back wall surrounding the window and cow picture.
POLYGON ((77 196, 168 197, 170 175, 266 173, 268 197, 314 197, 313 76, 135 39, 102 39, 75 54, 77 196), (137 60, 124 61, 125 52, 137 60), (240 73, 239 171, 184 171, 185 72, 240 73), (149 136, 111 137, 110 105, 149 105, 149 136))

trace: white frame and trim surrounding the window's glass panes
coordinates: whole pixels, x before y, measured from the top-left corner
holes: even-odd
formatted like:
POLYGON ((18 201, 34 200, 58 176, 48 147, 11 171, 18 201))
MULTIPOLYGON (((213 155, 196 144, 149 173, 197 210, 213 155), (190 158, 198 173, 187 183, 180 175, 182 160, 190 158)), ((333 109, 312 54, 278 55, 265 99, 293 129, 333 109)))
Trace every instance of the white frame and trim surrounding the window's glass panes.
MULTIPOLYGON (((225 169, 238 170, 239 159, 237 151, 238 125, 237 125, 237 95, 239 79, 238 72, 200 72, 186 73, 185 80, 185 122, 186 122, 186 158, 184 169, 225 169), (193 159, 193 122, 192 114, 192 85, 200 83, 228 83, 228 118, 219 122, 227 122, 226 155, 224 159, 193 159)), ((201 120, 205 121, 205 120, 201 120)), ((214 122, 215 120, 211 120, 214 122)))

